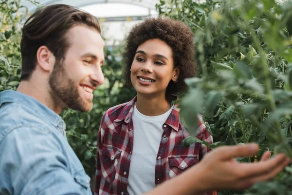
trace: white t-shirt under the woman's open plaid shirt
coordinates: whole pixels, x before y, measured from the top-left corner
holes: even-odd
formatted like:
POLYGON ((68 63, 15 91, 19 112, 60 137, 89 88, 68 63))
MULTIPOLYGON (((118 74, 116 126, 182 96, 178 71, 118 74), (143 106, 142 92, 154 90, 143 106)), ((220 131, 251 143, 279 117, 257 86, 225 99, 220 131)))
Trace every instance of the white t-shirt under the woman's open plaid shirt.
POLYGON ((163 125, 174 105, 163 115, 149 117, 136 107, 132 114, 134 143, 128 176, 128 195, 146 193, 155 187, 156 157, 163 125))

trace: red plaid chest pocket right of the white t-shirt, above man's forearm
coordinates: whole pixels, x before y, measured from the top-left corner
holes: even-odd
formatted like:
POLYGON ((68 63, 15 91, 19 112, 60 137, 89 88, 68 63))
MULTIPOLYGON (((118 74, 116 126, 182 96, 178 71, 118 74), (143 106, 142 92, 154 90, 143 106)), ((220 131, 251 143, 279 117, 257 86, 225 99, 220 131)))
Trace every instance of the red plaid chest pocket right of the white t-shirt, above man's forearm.
POLYGON ((188 167, 197 164, 199 161, 198 155, 175 155, 168 156, 169 177, 178 176, 188 167))

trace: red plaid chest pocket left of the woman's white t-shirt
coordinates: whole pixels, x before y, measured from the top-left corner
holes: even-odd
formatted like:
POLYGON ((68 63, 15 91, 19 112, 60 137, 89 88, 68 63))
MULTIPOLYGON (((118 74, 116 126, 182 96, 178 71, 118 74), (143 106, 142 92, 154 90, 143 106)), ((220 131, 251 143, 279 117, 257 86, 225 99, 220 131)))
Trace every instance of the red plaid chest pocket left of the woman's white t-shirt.
POLYGON ((121 150, 110 145, 103 145, 101 156, 101 172, 107 182, 111 182, 116 175, 121 150))

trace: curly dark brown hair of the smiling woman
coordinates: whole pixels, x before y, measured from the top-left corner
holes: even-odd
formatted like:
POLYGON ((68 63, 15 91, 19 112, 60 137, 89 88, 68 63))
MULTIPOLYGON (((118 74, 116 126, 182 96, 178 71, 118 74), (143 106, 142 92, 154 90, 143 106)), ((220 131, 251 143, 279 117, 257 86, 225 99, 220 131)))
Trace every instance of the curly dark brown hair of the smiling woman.
POLYGON ((197 73, 193 33, 182 21, 164 17, 148 18, 135 25, 129 32, 122 54, 126 84, 131 84, 130 69, 138 46, 149 39, 161 39, 166 42, 172 49, 174 67, 180 69, 178 81, 170 81, 166 88, 165 98, 171 102, 177 95, 186 91, 184 78, 194 77, 197 73))

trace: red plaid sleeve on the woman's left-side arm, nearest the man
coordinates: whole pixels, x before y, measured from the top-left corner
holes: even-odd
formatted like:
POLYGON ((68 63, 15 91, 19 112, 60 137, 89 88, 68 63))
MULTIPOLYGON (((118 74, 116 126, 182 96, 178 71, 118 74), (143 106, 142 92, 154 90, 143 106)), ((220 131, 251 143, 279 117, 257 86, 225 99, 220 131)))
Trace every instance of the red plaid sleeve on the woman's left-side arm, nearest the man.
MULTIPOLYGON (((106 114, 105 114, 106 115, 106 114)), ((95 170, 95 191, 94 194, 99 194, 100 189, 100 180, 101 180, 101 155, 102 155, 102 146, 103 146, 103 135, 105 131, 105 115, 101 118, 99 131, 97 135, 97 152, 96 152, 96 170, 95 170)))

